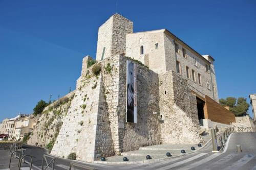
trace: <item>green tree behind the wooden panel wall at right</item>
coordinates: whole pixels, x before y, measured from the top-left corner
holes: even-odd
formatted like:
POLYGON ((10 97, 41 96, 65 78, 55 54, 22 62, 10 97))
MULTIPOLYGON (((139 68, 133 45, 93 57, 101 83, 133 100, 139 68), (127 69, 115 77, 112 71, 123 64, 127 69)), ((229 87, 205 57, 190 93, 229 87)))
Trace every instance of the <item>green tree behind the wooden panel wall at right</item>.
POLYGON ((232 98, 228 97, 226 99, 220 99, 220 104, 223 106, 229 106, 229 110, 236 116, 248 115, 247 111, 249 109, 249 104, 246 102, 245 98, 232 98))

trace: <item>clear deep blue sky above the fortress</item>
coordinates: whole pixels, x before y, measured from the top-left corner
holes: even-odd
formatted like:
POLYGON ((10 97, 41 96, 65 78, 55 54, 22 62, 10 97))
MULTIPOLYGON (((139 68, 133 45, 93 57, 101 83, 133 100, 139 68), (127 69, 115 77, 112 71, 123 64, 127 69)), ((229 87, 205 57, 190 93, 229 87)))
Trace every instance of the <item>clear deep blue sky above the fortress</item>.
MULTIPOLYGON (((74 90, 98 27, 115 12, 134 32, 166 28, 215 58, 219 98, 256 93, 255 1, 0 0, 0 121, 74 90)), ((251 109, 250 109, 251 114, 251 109)))

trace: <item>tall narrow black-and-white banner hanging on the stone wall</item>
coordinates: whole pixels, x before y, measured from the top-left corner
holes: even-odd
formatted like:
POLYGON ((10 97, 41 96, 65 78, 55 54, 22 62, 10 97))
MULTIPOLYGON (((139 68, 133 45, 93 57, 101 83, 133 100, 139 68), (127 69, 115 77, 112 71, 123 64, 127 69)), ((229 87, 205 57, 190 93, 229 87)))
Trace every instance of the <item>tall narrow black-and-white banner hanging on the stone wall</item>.
POLYGON ((137 66, 126 61, 126 122, 137 123, 137 66))

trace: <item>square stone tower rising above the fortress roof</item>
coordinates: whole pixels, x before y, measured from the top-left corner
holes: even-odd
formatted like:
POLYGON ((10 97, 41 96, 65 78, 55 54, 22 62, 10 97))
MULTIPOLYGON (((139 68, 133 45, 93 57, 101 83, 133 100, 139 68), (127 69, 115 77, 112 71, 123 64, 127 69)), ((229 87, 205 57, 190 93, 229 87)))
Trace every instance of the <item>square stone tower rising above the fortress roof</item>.
POLYGON ((126 34, 133 33, 133 22, 114 14, 99 27, 96 60, 125 53, 126 34))

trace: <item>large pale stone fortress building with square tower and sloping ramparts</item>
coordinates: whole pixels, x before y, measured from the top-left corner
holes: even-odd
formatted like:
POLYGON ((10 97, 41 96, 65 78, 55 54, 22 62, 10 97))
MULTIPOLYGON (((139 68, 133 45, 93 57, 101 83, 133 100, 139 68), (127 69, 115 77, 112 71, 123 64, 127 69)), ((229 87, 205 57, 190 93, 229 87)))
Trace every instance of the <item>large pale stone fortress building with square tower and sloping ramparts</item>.
POLYGON ((51 142, 53 155, 93 162, 145 145, 195 144, 202 126, 235 122, 218 103, 214 59, 166 29, 133 33, 133 22, 114 14, 99 28, 96 61, 83 58, 76 90, 45 108, 29 144, 51 142), (126 119, 127 61, 136 65, 137 123, 126 119))

